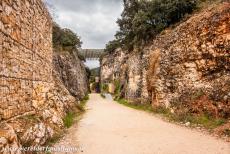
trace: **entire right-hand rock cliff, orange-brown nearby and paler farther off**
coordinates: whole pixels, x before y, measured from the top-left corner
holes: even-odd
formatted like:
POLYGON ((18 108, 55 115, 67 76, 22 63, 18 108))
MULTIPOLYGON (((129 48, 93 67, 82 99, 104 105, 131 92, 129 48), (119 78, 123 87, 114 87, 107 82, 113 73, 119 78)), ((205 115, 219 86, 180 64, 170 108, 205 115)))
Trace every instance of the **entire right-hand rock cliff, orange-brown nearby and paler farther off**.
POLYGON ((229 118, 229 10, 229 2, 206 8, 139 52, 105 56, 102 82, 119 80, 127 99, 229 118))

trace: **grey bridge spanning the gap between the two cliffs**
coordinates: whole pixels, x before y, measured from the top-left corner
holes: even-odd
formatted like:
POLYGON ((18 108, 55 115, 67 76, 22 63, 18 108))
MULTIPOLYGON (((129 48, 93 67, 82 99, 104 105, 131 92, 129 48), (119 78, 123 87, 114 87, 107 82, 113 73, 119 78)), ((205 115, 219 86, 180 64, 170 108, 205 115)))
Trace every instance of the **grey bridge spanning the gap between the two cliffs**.
POLYGON ((79 49, 79 54, 85 59, 99 59, 104 54, 104 49, 79 49))

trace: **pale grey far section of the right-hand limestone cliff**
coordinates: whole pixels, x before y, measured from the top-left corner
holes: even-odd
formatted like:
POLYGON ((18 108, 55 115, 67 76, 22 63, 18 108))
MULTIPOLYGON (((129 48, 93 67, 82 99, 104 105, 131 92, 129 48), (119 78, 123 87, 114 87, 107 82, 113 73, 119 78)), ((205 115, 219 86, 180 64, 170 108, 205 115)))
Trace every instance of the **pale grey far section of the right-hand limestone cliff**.
MULTIPOLYGON (((145 49, 146 53, 148 48, 145 49)), ((119 82, 120 96, 129 101, 148 102, 146 58, 143 52, 134 52, 117 49, 106 55, 101 62, 101 82, 119 82)))

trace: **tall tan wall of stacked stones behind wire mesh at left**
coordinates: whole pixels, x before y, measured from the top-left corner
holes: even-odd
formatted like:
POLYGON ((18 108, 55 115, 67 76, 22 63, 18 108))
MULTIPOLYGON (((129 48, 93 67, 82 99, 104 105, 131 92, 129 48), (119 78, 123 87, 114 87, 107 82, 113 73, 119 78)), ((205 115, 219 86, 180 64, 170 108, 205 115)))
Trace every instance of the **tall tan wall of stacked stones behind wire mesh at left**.
POLYGON ((52 22, 41 0, 0 2, 0 119, 42 105, 52 84, 52 22))

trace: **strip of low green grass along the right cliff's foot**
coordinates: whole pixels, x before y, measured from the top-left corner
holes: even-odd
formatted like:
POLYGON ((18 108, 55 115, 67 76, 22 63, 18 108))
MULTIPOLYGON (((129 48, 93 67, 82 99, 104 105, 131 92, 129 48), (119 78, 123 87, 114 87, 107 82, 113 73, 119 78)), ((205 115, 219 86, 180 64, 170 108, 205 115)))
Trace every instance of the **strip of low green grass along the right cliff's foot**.
MULTIPOLYGON (((148 104, 132 104, 129 103, 125 99, 117 99, 116 100, 118 103, 123 104, 125 106, 138 109, 138 110, 143 110, 143 111, 148 111, 151 113, 155 114, 160 114, 163 117, 166 117, 169 121, 174 121, 174 122, 190 122, 191 126, 202 126, 206 129, 215 129, 218 126, 221 126, 226 123, 225 119, 221 118, 214 118, 209 115, 192 115, 189 113, 171 113, 169 109, 166 109, 165 107, 156 107, 153 108, 150 103, 148 104)), ((226 134, 228 134, 230 131, 226 130, 226 134)))

